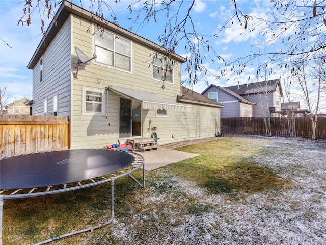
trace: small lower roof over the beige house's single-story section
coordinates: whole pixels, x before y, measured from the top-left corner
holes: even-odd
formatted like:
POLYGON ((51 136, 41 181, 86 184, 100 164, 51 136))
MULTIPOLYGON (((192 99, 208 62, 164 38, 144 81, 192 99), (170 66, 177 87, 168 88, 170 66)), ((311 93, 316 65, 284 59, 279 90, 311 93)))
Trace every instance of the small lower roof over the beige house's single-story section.
POLYGON ((200 93, 197 93, 184 86, 181 87, 182 87, 182 95, 177 96, 177 100, 180 102, 187 102, 187 103, 200 104, 200 105, 213 106, 213 107, 224 107, 224 105, 222 105, 221 103, 208 99, 206 96, 200 93))

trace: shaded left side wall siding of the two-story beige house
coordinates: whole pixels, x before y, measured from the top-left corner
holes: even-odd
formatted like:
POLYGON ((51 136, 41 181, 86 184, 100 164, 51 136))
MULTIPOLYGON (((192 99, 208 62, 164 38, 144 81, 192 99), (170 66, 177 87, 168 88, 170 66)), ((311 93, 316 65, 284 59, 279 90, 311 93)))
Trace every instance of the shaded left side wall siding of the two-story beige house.
POLYGON ((40 82, 40 61, 33 68, 33 115, 53 112, 53 96, 58 95, 58 115, 70 115, 70 19, 52 40, 43 54, 43 82, 40 82))

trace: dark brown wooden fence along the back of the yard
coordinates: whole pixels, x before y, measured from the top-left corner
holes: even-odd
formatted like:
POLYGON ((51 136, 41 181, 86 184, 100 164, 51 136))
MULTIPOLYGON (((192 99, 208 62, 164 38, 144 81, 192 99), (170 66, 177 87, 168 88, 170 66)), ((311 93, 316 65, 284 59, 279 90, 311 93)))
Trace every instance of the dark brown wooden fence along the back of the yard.
MULTIPOLYGON (((286 117, 272 117, 270 120, 273 136, 290 136, 286 117)), ((225 134, 266 135, 265 122, 260 117, 221 118, 221 126, 225 134)), ((297 137, 311 138, 312 126, 310 118, 296 117, 295 130, 297 137)), ((316 139, 326 139, 326 117, 317 118, 316 139)))

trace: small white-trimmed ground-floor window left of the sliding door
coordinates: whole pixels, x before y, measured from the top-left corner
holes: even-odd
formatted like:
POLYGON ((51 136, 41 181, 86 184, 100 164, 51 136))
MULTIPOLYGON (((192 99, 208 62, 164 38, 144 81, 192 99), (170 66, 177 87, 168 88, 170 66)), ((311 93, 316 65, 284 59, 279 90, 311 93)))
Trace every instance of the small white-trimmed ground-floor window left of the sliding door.
POLYGON ((83 115, 104 115, 104 90, 83 88, 83 115))

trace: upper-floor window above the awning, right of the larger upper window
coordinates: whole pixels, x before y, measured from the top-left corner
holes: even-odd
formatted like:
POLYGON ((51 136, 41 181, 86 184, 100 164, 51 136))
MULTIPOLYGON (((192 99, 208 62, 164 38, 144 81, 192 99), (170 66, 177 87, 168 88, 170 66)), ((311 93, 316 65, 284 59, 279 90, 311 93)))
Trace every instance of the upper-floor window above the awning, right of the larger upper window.
POLYGON ((166 56, 152 53, 152 78, 173 83, 173 61, 166 56))

